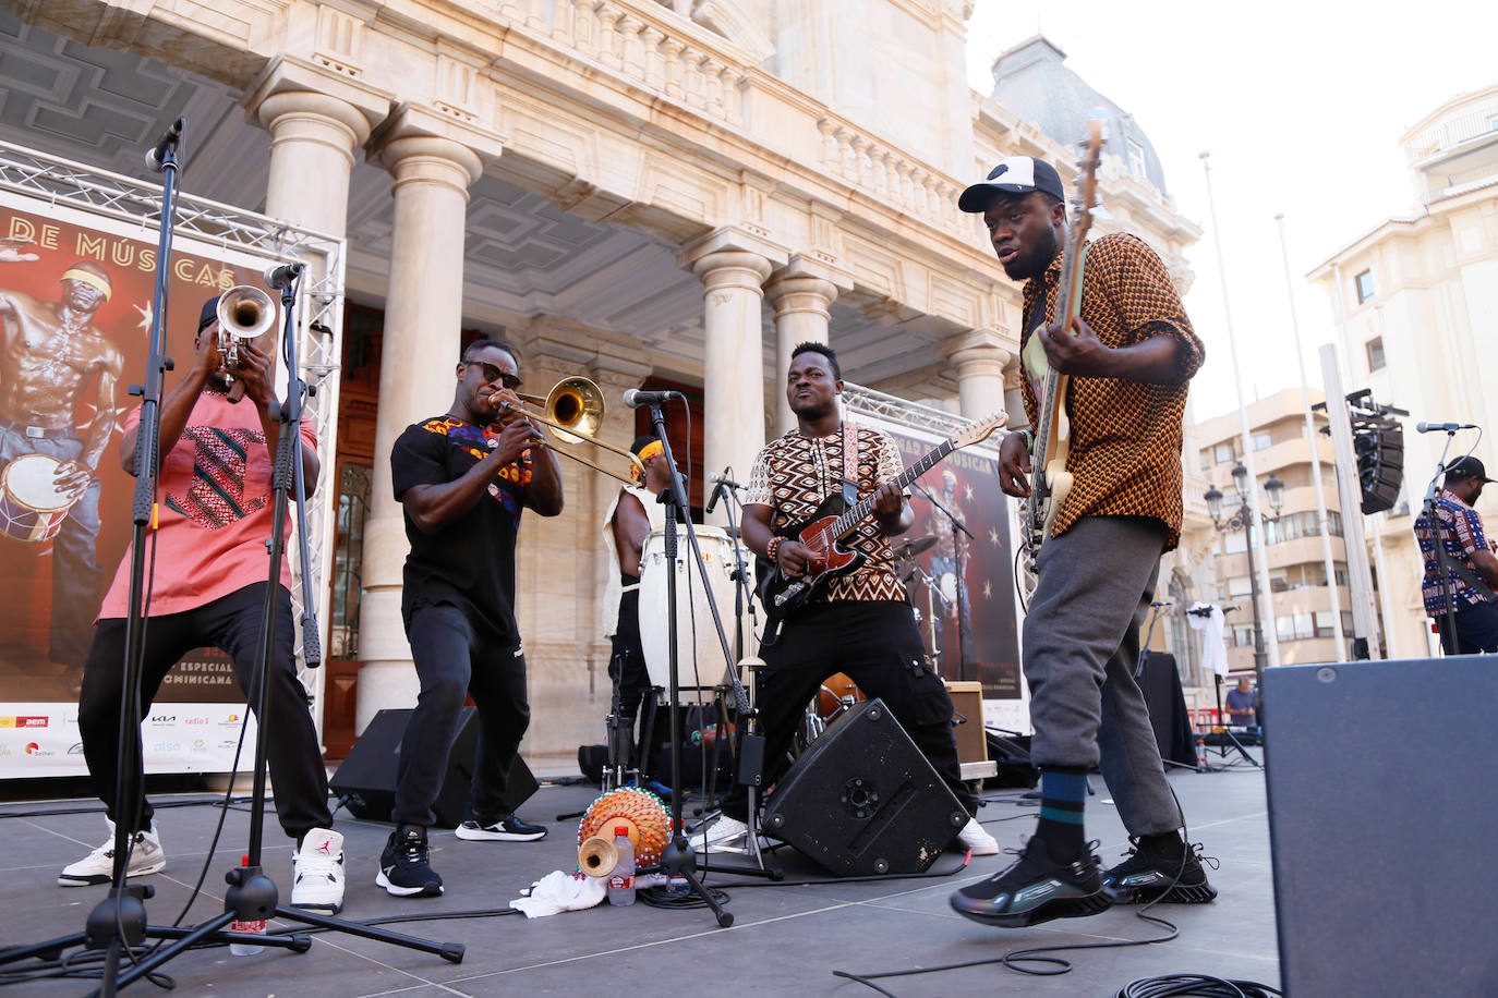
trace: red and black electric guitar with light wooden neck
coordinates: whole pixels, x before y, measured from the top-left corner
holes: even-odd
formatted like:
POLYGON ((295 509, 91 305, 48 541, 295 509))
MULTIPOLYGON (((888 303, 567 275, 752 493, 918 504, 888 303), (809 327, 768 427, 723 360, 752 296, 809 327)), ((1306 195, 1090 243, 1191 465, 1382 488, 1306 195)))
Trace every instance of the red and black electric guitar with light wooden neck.
MULTIPOLYGON (((971 447, 975 443, 987 440, 1005 422, 1008 422, 1008 416, 999 411, 972 423, 962 432, 941 441, 941 444, 929 450, 920 461, 905 468, 894 479, 894 485, 902 489, 906 488, 911 482, 936 467, 953 450, 971 447)), ((759 558, 755 563, 756 591, 759 601, 764 604, 767 634, 774 633, 773 627, 779 621, 795 613, 828 582, 857 572, 858 566, 864 563, 866 555, 861 551, 843 548, 842 542, 873 510, 875 495, 875 492, 870 492, 848 510, 843 510, 842 495, 828 495, 816 507, 810 519, 776 531, 786 540, 806 545, 819 558, 813 563, 816 564, 815 572, 807 572, 797 578, 783 575, 779 566, 771 564, 767 558, 759 558)))

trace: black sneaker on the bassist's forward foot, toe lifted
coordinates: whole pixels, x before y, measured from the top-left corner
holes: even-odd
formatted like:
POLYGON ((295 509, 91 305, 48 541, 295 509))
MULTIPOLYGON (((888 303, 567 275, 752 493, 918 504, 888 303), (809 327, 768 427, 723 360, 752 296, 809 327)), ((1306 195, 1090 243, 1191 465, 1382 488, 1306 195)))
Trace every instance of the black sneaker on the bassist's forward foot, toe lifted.
MULTIPOLYGON (((1019 850, 1005 850, 1019 853, 1019 850)), ((1109 908, 1091 845, 1077 859, 1058 863, 1032 838, 1017 863, 951 895, 951 908, 974 922, 1022 929, 1052 919, 1080 919, 1109 908)))

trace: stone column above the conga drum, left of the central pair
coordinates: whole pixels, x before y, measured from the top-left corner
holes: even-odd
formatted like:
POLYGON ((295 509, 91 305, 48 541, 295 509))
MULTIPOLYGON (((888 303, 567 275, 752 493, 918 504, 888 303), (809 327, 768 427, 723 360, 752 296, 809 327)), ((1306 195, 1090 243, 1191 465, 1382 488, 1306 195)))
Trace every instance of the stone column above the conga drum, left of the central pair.
POLYGON ((746 480, 764 446, 759 307, 770 268, 770 260, 748 250, 713 250, 692 260, 692 272, 703 281, 704 474, 731 467, 739 480, 746 480))

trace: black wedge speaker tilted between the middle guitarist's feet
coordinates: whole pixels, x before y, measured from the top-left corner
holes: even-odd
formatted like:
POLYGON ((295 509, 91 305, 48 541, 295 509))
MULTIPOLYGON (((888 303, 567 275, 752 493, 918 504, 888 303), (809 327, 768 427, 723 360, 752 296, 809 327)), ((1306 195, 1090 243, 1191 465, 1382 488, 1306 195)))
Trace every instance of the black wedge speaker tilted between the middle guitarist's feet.
POLYGON ((840 877, 918 874, 968 811, 884 700, 827 726, 780 778, 764 827, 840 877))

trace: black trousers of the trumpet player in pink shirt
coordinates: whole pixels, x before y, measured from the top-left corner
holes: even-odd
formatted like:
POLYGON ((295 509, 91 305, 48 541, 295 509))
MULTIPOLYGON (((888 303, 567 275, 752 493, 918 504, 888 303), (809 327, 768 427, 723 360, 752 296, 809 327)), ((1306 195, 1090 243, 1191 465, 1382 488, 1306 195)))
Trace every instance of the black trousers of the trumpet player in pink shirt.
MULTIPOLYGON (((265 604, 265 582, 235 590, 213 603, 181 613, 147 618, 145 657, 141 667, 141 715, 151 711, 156 691, 166 673, 193 648, 220 648, 234 661, 240 690, 249 696, 255 688, 255 661, 259 651, 261 615, 265 604)), ((331 827, 328 811, 328 774, 322 766, 318 732, 307 709, 307 691, 297 679, 292 661, 295 642, 291 616, 291 594, 277 585, 276 640, 270 661, 270 726, 265 729, 265 756, 276 783, 276 815, 286 835, 301 839, 315 827, 331 827)), ((115 799, 120 771, 120 697, 124 693, 124 618, 111 616, 94 628, 88 663, 84 666, 84 688, 78 700, 78 730, 84 739, 84 760, 94 793, 103 800, 111 821, 132 823, 139 806, 136 830, 151 827, 151 803, 145 799, 136 762, 135 800, 115 799)), ((135 733, 135 757, 141 759, 141 733, 135 733)), ((249 751, 250 742, 246 744, 249 751)), ((244 769, 250 760, 241 759, 244 769)))

